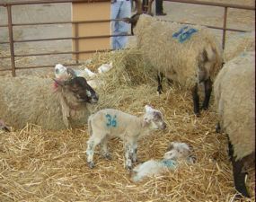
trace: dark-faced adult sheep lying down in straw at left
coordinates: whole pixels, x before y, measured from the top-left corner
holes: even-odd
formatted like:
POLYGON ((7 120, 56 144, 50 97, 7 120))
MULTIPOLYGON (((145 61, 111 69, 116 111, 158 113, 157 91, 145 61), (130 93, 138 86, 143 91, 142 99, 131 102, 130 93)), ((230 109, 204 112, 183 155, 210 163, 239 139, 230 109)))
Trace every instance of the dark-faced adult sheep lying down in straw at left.
POLYGON ((98 95, 83 77, 54 82, 50 78, 1 77, 0 115, 14 128, 27 123, 44 129, 81 127, 90 115, 88 103, 98 95))

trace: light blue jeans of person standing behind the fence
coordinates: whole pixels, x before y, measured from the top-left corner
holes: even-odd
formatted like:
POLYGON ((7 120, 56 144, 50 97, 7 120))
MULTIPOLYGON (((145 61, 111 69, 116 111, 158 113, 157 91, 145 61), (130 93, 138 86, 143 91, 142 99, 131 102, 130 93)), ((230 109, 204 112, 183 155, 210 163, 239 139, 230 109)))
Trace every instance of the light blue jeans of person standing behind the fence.
MULTIPOLYGON (((130 17, 131 3, 130 1, 117 1, 111 4, 111 19, 120 19, 130 17)), ((115 21, 111 22, 112 35, 128 34, 130 25, 127 22, 115 21)), ((128 42, 128 36, 112 37, 111 46, 113 49, 125 48, 128 42)))

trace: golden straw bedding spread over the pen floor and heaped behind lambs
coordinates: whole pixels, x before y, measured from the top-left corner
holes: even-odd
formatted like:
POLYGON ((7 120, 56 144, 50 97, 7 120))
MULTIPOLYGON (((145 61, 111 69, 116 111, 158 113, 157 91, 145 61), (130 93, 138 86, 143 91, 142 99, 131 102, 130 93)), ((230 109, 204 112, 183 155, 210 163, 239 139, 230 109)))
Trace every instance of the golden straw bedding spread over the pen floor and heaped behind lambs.
MULTIPOLYGON (((137 50, 97 54, 91 67, 110 60, 115 67, 103 75, 101 101, 93 110, 110 107, 140 115, 151 104, 163 111, 168 126, 138 142, 139 162, 162 158, 170 141, 192 145, 197 162, 134 183, 124 169, 118 138, 109 144, 112 160, 103 159, 97 149, 91 170, 85 156, 86 126, 53 132, 28 125, 0 135, 0 201, 231 201, 235 190, 227 139, 215 133, 213 107, 197 118, 190 114, 189 92, 165 86, 168 90, 158 96, 154 70, 137 50)), ((248 184, 254 191, 253 171, 248 184)))

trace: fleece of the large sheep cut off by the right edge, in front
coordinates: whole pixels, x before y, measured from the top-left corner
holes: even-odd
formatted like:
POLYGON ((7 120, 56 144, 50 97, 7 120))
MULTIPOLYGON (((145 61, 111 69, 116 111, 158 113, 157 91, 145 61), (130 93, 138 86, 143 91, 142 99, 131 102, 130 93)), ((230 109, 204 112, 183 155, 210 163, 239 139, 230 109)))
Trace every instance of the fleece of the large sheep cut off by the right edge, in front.
POLYGON ((214 83, 219 123, 237 160, 255 152, 255 52, 225 64, 214 83))

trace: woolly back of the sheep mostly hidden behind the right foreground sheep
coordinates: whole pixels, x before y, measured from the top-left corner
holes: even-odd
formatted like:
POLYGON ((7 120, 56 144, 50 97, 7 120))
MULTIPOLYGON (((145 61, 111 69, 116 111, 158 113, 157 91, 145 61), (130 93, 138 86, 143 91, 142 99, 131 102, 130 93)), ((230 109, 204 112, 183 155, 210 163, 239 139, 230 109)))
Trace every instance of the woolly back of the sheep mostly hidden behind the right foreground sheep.
POLYGON ((255 50, 255 31, 235 33, 225 42, 224 61, 228 62, 246 51, 255 50))

